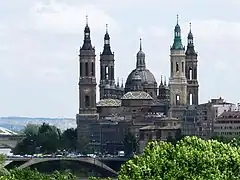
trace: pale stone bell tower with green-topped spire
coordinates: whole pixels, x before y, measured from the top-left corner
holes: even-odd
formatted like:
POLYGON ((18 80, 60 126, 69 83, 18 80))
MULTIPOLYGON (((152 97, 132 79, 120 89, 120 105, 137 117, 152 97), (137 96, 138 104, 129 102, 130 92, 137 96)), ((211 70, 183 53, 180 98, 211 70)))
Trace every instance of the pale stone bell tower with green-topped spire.
POLYGON ((174 29, 174 42, 170 49, 170 63, 170 105, 186 105, 187 79, 185 75, 185 47, 182 45, 181 28, 178 24, 178 16, 177 24, 174 29))

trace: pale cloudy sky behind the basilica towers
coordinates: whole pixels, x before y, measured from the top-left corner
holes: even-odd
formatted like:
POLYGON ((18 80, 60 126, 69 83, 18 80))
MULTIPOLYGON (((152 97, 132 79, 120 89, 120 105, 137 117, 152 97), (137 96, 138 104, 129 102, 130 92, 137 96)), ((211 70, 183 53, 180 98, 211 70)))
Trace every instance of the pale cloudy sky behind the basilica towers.
POLYGON ((221 96, 237 103, 239 7, 239 0, 2 0, 0 116, 75 117, 86 14, 96 47, 97 79, 106 23, 116 77, 126 80, 135 68, 140 37, 147 68, 158 82, 161 75, 169 77, 169 48, 179 14, 184 44, 192 23, 200 102, 221 96))

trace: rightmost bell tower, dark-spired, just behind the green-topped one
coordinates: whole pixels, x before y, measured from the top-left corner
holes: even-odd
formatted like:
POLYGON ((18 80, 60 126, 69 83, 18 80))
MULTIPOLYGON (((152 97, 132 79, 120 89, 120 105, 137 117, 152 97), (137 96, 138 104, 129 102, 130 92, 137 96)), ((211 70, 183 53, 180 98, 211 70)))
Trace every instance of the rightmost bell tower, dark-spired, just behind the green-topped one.
POLYGON ((197 77, 197 66, 198 54, 195 52, 194 43, 193 43, 193 34, 191 30, 191 23, 190 23, 190 30, 188 33, 188 45, 186 50, 186 77, 187 77, 187 102, 189 105, 198 105, 198 91, 199 91, 199 84, 198 84, 198 77, 197 77))

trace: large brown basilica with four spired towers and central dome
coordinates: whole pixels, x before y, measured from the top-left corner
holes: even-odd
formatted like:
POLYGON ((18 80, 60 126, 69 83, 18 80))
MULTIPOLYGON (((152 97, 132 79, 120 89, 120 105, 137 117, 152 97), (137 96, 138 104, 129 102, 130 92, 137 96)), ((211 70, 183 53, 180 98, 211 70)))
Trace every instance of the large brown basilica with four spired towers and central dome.
POLYGON ((115 58, 108 28, 100 54, 100 82, 96 81, 95 56, 87 22, 79 55, 79 112, 76 116, 79 138, 86 136, 89 142, 101 144, 102 149, 102 146, 106 148, 107 143, 121 144, 123 134, 127 131, 131 131, 139 140, 149 139, 146 134, 149 135, 150 130, 155 132, 152 136, 162 140, 175 137, 182 131, 186 108, 198 105, 198 54, 194 49, 191 24, 185 49, 177 18, 170 48, 168 82, 166 77, 161 77, 158 83, 147 68, 141 39, 136 67, 121 85, 115 79, 115 58), (100 91, 98 102, 97 85, 100 91))

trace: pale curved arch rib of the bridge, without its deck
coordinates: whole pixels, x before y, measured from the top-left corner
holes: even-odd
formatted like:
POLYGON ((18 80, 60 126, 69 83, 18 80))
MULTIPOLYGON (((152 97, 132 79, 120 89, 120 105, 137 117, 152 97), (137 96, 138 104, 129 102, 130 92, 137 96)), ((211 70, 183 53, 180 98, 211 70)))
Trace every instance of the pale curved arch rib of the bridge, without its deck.
POLYGON ((19 166, 19 169, 24 169, 27 167, 30 167, 35 164, 44 163, 44 162, 50 162, 50 161, 75 161, 80 163, 86 163, 92 166, 95 166, 99 168, 103 173, 106 173, 108 175, 116 176, 117 172, 114 171, 112 168, 104 164, 103 162, 99 161, 96 158, 91 157, 84 157, 84 158, 32 158, 29 161, 25 162, 21 166, 19 166))

